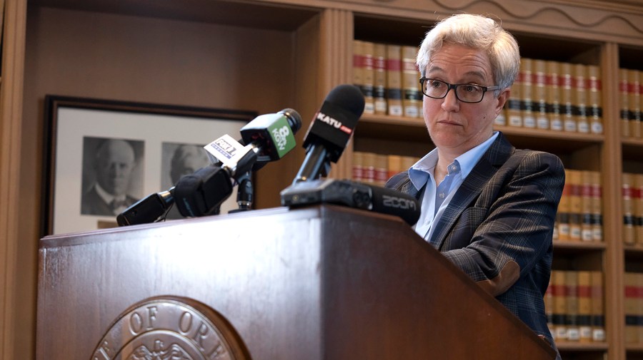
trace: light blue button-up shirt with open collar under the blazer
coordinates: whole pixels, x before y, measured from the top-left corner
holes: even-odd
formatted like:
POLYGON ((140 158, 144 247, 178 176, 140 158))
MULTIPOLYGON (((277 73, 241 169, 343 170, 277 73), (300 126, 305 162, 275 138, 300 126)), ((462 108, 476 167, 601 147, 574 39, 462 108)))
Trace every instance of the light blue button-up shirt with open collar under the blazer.
POLYGON ((444 178, 439 185, 436 185, 433 176, 438 161, 437 148, 433 149, 409 169, 409 179, 417 190, 421 190, 424 185, 427 185, 424 190, 424 197, 422 197, 420 217, 415 225, 415 232, 424 237, 425 240, 429 240, 432 237, 433 228, 431 225, 442 216, 442 212, 451 202, 458 187, 462 185, 464 179, 471 173, 471 170, 482 158, 482 155, 489 150, 489 147, 497 137, 498 132, 494 131, 491 138, 484 141, 484 143, 455 158, 454 162, 447 168, 449 172, 447 178, 444 178), (442 202, 442 204, 439 202, 442 202), (436 204, 438 205, 436 206, 436 204))

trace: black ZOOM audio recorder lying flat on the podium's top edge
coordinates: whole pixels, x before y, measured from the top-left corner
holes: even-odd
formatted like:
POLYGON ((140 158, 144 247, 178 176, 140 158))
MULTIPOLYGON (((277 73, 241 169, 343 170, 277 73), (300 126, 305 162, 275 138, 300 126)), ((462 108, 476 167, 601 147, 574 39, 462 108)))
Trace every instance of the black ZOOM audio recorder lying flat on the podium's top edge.
POLYGON ((395 215, 409 225, 414 225, 420 216, 419 202, 415 197, 388 187, 352 180, 302 181, 281 191, 281 205, 284 206, 301 207, 320 203, 395 215))

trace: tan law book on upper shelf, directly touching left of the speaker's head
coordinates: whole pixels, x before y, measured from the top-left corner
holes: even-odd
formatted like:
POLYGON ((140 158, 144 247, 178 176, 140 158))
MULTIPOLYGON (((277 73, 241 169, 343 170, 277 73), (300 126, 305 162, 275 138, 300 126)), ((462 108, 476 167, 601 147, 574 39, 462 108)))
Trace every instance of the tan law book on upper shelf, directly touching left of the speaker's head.
POLYGON ((415 65, 417 48, 402 46, 402 108, 404 116, 419 118, 422 115, 422 89, 419 83, 419 71, 415 65))

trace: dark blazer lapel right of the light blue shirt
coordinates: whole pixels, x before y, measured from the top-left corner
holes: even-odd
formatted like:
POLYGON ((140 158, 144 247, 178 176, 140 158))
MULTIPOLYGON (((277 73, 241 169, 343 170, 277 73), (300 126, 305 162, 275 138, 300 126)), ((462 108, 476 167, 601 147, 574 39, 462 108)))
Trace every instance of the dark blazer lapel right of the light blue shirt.
POLYGON ((449 206, 444 209, 442 216, 434 224, 433 235, 429 239, 431 245, 438 250, 442 247, 442 243, 447 238, 456 220, 477 199, 484 185, 495 175, 514 150, 507 138, 504 138, 504 135, 499 133, 498 138, 492 143, 489 150, 482 155, 482 158, 480 158, 467 178, 464 179, 451 202, 449 202, 449 206))

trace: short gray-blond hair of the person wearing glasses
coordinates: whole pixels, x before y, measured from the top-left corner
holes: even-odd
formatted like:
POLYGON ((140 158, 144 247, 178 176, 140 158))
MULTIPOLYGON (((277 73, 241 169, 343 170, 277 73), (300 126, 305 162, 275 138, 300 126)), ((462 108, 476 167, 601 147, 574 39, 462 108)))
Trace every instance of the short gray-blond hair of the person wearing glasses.
POLYGON ((427 72, 431 57, 444 43, 486 52, 494 72, 494 85, 504 89, 514 83, 520 68, 518 43, 512 34, 502 29, 493 19, 481 15, 457 14, 440 21, 427 32, 417 53, 417 66, 422 76, 427 72))

